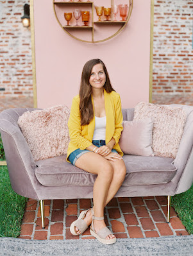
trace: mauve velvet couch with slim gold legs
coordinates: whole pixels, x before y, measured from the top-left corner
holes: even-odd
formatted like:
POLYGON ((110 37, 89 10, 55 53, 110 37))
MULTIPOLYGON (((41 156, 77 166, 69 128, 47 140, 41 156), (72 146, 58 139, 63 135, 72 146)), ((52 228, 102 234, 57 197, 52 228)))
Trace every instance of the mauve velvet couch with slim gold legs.
MULTIPOLYGON (((124 155, 127 174, 115 197, 167 196, 169 222, 171 196, 187 191, 193 181, 193 107, 181 107, 188 117, 175 159, 124 155)), ((17 120, 38 108, 10 108, 0 114, 0 132, 12 189, 26 198, 40 200, 44 228, 44 200, 92 198, 96 175, 66 162, 65 155, 34 161, 17 120)), ((122 109, 124 120, 133 119, 134 108, 122 109)))

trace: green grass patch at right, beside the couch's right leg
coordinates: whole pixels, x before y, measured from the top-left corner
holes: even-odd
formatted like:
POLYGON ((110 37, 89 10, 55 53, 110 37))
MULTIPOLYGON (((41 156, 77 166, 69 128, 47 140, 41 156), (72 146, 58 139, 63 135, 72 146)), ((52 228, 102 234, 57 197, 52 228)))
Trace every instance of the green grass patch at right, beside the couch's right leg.
POLYGON ((189 234, 193 234, 193 185, 186 192, 172 197, 171 205, 174 207, 189 234))

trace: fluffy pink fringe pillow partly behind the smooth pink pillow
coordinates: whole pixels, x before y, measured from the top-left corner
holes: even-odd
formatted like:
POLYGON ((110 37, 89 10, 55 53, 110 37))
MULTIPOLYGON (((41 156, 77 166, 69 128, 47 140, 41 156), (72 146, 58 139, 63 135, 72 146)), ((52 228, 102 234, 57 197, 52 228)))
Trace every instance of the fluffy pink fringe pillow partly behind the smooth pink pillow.
POLYGON ((175 158, 187 119, 178 107, 140 102, 135 107, 134 121, 153 118, 152 148, 155 156, 175 158))

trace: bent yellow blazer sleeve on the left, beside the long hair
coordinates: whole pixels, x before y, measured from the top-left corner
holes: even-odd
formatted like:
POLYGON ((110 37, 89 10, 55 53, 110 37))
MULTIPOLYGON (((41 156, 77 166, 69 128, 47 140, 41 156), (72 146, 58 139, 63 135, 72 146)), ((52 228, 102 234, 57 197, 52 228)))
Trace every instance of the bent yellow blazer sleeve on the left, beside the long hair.
POLYGON ((92 142, 88 141, 81 135, 81 117, 79 110, 79 102, 76 98, 72 99, 71 114, 68 121, 69 135, 71 142, 78 146, 81 150, 86 149, 92 145, 92 142))

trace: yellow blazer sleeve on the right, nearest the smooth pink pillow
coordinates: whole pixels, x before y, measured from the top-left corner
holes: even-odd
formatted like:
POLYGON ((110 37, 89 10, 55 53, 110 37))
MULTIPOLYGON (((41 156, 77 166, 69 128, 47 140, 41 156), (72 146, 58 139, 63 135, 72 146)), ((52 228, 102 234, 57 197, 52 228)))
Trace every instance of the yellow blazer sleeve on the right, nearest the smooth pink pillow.
POLYGON ((121 132, 123 130, 122 128, 122 110, 121 110, 121 98, 119 96, 119 99, 117 101, 116 106, 116 112, 115 112, 115 132, 113 134, 113 138, 115 139, 115 144, 119 142, 119 139, 121 137, 121 132))

